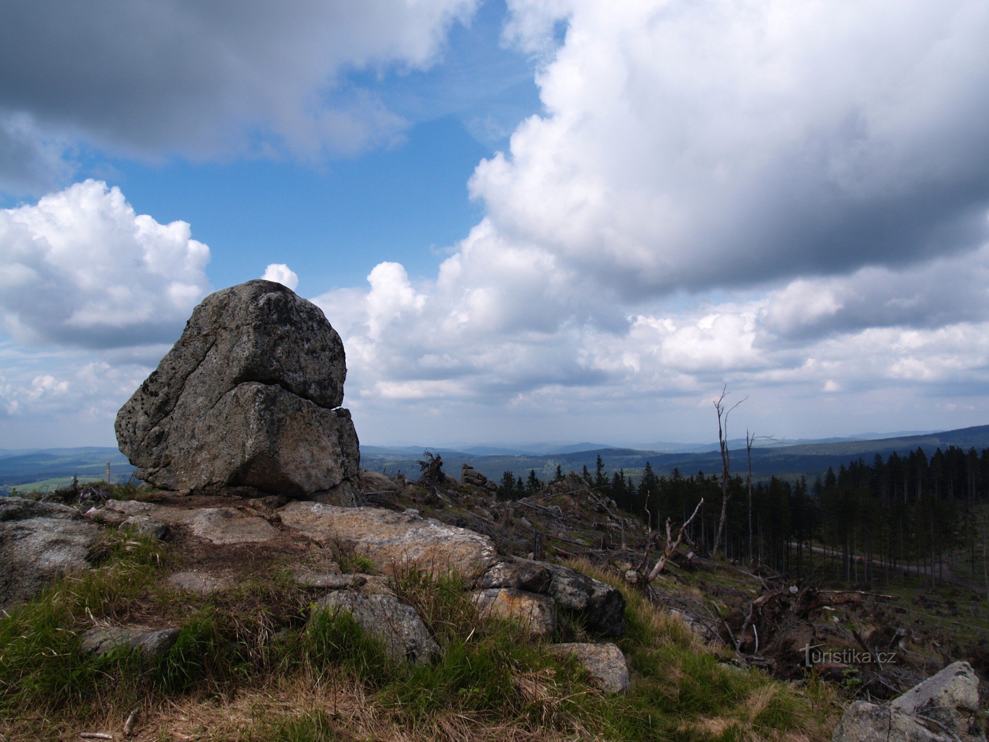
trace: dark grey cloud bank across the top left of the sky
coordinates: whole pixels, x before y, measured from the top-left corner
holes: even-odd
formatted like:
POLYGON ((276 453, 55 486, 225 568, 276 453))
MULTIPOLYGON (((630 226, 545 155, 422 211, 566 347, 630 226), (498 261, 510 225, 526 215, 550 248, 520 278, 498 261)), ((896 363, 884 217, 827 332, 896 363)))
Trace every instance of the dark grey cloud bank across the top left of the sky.
POLYGON ((476 3, 16 4, 0 25, 0 153, 19 155, 0 170, 36 188, 60 167, 53 133, 145 157, 275 147, 312 159, 389 144, 405 121, 346 73, 428 66, 476 3), (47 138, 11 143, 25 117, 47 138))

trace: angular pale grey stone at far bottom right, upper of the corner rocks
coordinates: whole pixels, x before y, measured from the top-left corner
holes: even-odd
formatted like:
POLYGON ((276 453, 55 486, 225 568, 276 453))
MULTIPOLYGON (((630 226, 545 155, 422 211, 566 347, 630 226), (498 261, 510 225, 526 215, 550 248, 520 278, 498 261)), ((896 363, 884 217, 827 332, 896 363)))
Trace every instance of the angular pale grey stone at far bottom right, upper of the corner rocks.
POLYGON ((890 701, 890 708, 933 719, 964 742, 985 740, 978 728, 979 678, 967 662, 944 670, 890 701))

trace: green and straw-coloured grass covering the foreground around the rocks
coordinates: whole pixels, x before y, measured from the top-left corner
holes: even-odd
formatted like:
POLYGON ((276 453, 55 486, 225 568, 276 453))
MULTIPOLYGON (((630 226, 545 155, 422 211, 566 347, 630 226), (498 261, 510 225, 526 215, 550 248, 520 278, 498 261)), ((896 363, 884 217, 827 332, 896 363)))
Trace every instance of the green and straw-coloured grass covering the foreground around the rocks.
POLYGON ((456 574, 393 579, 442 648, 413 666, 348 614, 311 610, 313 595, 287 570, 178 595, 163 581, 178 557, 113 530, 98 561, 0 617, 3 738, 119 733, 134 708, 140 739, 823 740, 837 720, 827 689, 720 664, 678 619, 617 583, 628 633, 616 641, 633 680, 629 694, 605 696, 523 626, 480 619, 456 574), (181 625, 163 657, 81 653, 86 628, 149 616, 181 625))

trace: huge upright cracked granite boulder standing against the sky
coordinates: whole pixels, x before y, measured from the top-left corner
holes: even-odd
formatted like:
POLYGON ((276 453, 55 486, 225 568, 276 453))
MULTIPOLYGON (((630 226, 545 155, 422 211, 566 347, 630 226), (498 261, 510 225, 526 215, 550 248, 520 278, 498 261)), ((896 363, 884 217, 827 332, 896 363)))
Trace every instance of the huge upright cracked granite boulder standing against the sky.
POLYGON ((360 471, 340 408, 343 343, 311 302, 272 281, 211 294, 121 408, 136 476, 167 490, 331 490, 360 471))

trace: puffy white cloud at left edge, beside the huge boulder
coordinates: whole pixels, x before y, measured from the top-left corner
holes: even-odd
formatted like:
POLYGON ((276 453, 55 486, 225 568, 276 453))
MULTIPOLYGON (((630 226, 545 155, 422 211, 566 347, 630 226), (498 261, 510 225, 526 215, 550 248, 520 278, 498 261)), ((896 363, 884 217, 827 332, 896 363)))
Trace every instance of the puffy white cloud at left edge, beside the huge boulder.
POLYGON ((24 343, 170 342, 209 292, 210 248, 87 180, 0 211, 0 326, 24 343))

